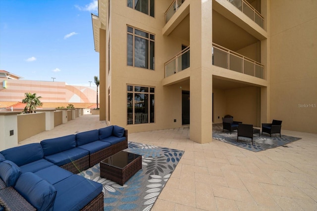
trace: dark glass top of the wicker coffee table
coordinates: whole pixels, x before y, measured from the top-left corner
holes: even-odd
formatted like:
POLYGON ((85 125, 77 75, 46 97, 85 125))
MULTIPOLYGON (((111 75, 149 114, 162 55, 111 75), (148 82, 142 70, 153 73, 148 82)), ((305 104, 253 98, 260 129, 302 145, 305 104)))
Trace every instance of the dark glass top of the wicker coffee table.
POLYGON ((140 157, 141 155, 133 154, 130 152, 121 151, 118 152, 105 160, 102 161, 102 163, 113 166, 115 168, 123 169, 128 164, 130 164, 132 161, 140 157))

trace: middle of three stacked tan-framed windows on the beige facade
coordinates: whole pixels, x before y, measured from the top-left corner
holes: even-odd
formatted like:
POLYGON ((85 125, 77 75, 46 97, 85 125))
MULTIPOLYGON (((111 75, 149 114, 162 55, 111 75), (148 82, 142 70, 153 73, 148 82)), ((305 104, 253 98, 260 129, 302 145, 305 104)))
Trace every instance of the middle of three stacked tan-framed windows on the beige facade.
POLYGON ((127 65, 154 70, 154 35, 127 27, 127 65))

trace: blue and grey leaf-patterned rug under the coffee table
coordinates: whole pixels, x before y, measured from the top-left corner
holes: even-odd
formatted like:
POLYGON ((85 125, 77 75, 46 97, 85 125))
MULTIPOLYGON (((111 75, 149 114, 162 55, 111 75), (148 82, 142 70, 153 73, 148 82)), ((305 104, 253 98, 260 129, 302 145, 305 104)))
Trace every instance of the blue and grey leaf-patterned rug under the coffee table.
POLYGON ((150 211, 184 151, 128 142, 124 151, 142 155, 142 169, 123 186, 100 177, 100 164, 79 175, 103 184, 105 211, 150 211))

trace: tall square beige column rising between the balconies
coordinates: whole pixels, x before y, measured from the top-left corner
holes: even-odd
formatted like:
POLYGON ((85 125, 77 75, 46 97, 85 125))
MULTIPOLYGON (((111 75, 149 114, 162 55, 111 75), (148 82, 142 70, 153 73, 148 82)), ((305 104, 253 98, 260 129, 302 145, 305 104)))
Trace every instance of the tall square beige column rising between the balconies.
POLYGON ((212 140, 212 0, 192 0, 190 13, 190 139, 212 140))

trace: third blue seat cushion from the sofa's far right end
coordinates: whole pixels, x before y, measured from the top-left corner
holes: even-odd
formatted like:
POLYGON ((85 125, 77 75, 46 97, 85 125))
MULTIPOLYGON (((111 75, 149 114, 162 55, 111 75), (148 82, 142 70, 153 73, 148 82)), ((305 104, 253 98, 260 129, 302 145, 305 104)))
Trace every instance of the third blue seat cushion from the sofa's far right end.
POLYGON ((72 161, 83 158, 87 155, 89 155, 89 152, 87 150, 76 147, 60 153, 45 156, 44 158, 60 167, 72 161))

